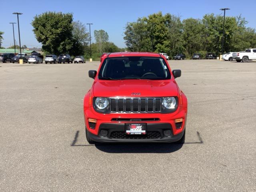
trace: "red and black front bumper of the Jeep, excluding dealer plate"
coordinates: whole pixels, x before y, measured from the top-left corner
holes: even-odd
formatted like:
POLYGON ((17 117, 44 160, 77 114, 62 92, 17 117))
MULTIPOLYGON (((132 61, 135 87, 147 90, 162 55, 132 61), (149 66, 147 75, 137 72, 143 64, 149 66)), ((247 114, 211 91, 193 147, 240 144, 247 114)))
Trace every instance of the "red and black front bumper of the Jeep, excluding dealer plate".
POLYGON ((84 118, 86 129, 92 140, 97 142, 175 142, 182 138, 186 127, 187 108, 178 106, 178 109, 170 114, 161 113, 112 113, 100 114, 95 112, 92 107, 84 108, 84 118), (89 125, 88 119, 97 120, 94 128, 89 125), (157 120, 144 120, 157 118, 157 120), (178 128, 176 119, 183 119, 178 128), (121 120, 116 120, 121 119, 121 120), (124 120, 127 119, 127 120, 124 120), (146 136, 127 136, 125 135, 125 123, 146 123, 146 136), (107 130, 108 134, 102 136, 101 130, 107 130), (164 135, 165 130, 170 130, 169 136, 164 135))

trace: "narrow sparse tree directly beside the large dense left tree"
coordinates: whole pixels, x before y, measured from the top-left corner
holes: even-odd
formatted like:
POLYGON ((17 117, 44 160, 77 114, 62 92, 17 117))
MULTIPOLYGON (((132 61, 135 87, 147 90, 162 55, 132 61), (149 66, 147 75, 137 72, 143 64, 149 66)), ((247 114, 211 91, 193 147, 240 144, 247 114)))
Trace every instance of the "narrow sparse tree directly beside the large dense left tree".
POLYGON ((74 55, 84 55, 85 47, 88 46, 89 33, 86 30, 85 25, 79 20, 73 22, 73 48, 72 53, 74 55))

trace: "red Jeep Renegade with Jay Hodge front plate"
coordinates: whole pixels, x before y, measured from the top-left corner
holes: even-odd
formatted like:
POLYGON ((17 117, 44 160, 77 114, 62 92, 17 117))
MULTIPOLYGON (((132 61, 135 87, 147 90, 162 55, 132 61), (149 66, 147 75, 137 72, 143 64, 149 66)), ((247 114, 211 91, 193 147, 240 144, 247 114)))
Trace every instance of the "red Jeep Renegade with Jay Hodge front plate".
POLYGON ((166 58, 148 52, 110 53, 84 97, 86 139, 96 142, 184 143, 187 98, 166 58))

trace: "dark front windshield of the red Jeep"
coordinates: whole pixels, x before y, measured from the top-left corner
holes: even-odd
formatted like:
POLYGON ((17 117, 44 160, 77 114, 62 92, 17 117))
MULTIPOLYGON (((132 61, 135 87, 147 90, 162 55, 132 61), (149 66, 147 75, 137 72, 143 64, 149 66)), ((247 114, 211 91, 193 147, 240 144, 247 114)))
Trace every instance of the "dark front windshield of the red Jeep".
POLYGON ((116 57, 106 58, 100 68, 99 79, 170 79, 170 72, 163 58, 116 57))

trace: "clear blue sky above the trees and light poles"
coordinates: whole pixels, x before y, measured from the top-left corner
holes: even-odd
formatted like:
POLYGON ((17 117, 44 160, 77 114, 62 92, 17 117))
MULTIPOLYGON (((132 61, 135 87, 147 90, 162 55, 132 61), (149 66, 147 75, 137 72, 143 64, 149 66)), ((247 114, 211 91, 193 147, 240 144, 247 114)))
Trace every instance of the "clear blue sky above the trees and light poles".
MULTIPOLYGON (((118 47, 124 48, 124 28, 127 22, 134 22, 139 17, 162 12, 178 15, 182 20, 186 18, 199 18, 205 14, 222 14, 220 8, 230 8, 226 16, 245 17, 247 26, 256 28, 255 8, 256 0, 246 2, 242 6, 241 0, 1 0, 0 31, 4 32, 3 47, 13 45, 12 25, 9 22, 17 22, 17 16, 13 12, 21 12, 20 38, 21 45, 29 48, 40 48, 37 42, 31 22, 34 16, 46 11, 72 12, 74 21, 93 23, 91 26, 92 42, 94 42, 94 30, 105 30, 109 35, 109 41, 118 47), (246 8, 245 8, 246 7, 246 8)), ((18 42, 18 25, 14 26, 15 39, 18 42)), ((87 26, 89 31, 89 27, 87 26)))

